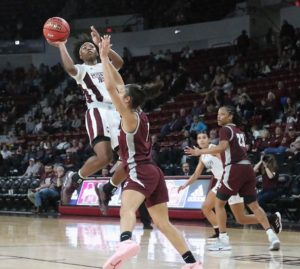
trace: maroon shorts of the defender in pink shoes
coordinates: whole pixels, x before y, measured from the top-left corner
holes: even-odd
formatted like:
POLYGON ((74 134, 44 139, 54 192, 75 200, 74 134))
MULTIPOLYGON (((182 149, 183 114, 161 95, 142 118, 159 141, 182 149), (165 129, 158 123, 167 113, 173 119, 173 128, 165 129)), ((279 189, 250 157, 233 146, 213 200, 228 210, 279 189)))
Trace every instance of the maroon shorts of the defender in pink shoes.
POLYGON ((169 201, 164 174, 152 163, 137 164, 130 169, 123 190, 135 190, 144 194, 146 207, 169 201))

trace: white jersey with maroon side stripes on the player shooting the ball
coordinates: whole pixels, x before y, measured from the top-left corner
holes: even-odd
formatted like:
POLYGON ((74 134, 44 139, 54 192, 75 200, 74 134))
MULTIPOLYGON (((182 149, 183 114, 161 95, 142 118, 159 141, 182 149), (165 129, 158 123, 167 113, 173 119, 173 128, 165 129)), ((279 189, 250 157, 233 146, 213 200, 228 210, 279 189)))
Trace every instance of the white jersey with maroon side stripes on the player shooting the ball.
POLYGON ((99 103, 111 104, 111 98, 104 83, 102 64, 76 64, 75 67, 77 69, 77 75, 72 77, 81 87, 87 107, 92 108, 99 103))

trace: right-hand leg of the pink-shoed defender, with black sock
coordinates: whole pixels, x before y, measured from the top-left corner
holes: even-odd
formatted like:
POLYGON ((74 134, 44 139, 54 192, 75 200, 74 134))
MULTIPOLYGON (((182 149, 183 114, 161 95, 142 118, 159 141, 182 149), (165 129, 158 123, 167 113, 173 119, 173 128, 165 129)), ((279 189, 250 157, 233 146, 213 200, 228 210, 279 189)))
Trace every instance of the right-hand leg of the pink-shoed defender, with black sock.
POLYGON ((199 262, 196 262, 196 259, 190 251, 183 235, 170 222, 167 204, 156 204, 154 206, 148 207, 148 211, 153 220, 153 223, 167 237, 174 248, 182 256, 183 260, 187 263, 187 265, 182 268, 202 268, 202 265, 199 262))

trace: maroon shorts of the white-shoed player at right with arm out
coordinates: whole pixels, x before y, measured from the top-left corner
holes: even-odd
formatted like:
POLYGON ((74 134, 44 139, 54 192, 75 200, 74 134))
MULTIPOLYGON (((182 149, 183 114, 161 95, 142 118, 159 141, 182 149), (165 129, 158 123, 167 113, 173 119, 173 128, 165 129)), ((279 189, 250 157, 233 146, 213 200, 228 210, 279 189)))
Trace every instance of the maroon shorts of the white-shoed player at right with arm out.
POLYGON ((252 165, 232 164, 224 168, 218 192, 225 195, 256 196, 256 177, 252 165))

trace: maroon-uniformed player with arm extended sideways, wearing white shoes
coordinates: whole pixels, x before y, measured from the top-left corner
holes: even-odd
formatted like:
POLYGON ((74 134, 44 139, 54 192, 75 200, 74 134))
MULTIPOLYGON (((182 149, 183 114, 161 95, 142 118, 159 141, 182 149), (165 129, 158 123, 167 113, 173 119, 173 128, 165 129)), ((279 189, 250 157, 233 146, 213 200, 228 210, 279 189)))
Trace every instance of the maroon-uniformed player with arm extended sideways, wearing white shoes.
POLYGON ((221 186, 217 190, 215 210, 220 230, 219 241, 209 250, 230 250, 229 236, 226 233, 225 204, 232 195, 239 194, 254 213, 258 222, 263 226, 270 242, 269 250, 279 250, 280 241, 270 227, 270 223, 264 210, 256 199, 256 178, 253 167, 248 160, 244 133, 235 125, 238 123, 238 115, 233 107, 223 106, 218 111, 219 145, 198 149, 187 148, 186 154, 200 156, 202 154, 221 153, 224 175, 221 186))

